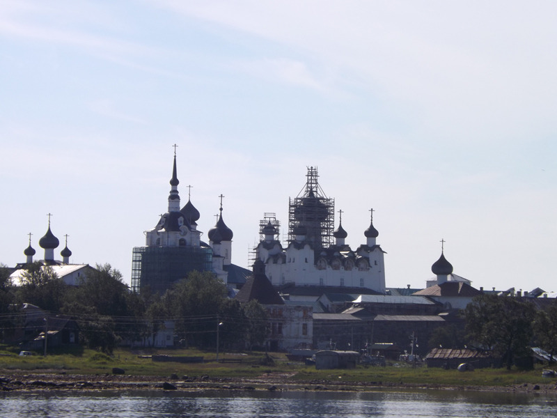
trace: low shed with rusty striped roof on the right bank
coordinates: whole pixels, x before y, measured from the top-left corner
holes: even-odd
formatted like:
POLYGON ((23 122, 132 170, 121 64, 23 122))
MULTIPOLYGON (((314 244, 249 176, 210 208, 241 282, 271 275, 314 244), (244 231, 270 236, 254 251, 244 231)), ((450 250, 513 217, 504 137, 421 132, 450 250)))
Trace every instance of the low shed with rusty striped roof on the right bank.
POLYGON ((491 353, 470 348, 433 348, 425 356, 427 367, 456 369, 459 364, 469 363, 475 369, 492 367, 497 363, 491 353))

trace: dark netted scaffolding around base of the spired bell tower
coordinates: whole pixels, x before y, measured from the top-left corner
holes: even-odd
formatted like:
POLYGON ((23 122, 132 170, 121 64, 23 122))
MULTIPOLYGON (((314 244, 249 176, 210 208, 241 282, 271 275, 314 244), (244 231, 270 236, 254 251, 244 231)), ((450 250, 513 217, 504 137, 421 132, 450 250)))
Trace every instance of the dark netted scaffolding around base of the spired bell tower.
POLYGON ((148 286, 153 293, 164 293, 194 270, 212 271, 210 247, 134 247, 132 291, 148 286))

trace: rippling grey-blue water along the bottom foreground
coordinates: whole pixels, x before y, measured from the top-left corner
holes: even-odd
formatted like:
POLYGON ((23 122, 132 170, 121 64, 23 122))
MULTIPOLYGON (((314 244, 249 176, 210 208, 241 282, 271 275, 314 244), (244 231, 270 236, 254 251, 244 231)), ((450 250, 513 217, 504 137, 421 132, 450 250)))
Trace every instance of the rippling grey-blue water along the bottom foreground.
POLYGON ((557 398, 492 392, 10 392, 2 417, 557 417, 557 398))

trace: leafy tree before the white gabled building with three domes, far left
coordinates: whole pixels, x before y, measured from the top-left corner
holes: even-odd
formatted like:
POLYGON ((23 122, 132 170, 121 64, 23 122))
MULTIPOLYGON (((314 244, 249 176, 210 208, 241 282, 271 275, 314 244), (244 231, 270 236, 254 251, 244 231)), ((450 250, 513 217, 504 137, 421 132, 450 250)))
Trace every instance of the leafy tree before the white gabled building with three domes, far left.
POLYGON ((63 279, 60 279, 48 265, 40 261, 31 263, 22 274, 22 284, 17 289, 17 299, 21 303, 31 303, 46 311, 58 312, 68 291, 63 279))

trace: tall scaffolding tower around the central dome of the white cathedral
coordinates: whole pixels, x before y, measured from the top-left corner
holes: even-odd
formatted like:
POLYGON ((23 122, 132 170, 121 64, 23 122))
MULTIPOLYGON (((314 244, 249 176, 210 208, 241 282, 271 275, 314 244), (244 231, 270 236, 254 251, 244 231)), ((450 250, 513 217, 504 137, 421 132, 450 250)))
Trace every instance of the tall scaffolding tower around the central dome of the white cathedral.
POLYGON ((299 227, 306 229, 306 241, 313 249, 334 243, 335 201, 327 197, 317 182, 317 167, 308 167, 306 185, 298 196, 289 199, 288 242, 295 240, 299 227))

